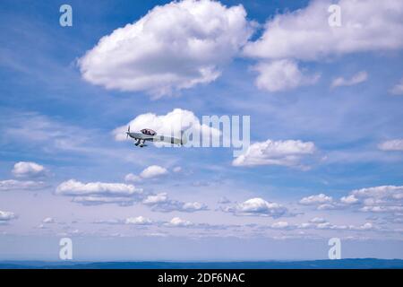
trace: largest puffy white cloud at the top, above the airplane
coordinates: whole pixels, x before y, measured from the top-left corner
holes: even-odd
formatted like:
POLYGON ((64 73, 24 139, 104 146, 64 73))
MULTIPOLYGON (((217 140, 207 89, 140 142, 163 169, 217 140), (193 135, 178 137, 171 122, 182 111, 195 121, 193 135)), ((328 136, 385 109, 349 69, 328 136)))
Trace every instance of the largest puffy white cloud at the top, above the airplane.
POLYGON ((156 6, 114 30, 81 57, 82 77, 120 91, 153 97, 217 79, 252 35, 242 5, 184 0, 156 6))

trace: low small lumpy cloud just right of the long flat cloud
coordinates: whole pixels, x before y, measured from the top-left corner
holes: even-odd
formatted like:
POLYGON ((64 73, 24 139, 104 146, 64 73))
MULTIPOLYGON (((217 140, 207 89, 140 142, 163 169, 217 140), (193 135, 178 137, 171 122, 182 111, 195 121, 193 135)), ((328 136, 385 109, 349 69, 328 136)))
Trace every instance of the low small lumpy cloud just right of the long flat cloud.
POLYGON ((150 205, 154 211, 163 213, 173 211, 193 213, 208 209, 206 204, 201 204, 199 202, 184 203, 182 201, 170 199, 167 196, 167 193, 159 193, 157 195, 147 196, 142 200, 142 203, 150 205))

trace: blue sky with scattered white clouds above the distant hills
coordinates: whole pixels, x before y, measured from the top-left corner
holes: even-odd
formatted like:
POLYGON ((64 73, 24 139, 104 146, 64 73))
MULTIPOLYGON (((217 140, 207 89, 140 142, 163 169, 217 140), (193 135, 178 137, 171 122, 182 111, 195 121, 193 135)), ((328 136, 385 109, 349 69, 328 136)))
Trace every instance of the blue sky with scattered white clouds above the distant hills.
POLYGON ((168 3, 2 2, 0 258, 403 258, 402 5, 168 3), (116 141, 175 109, 250 116, 251 150, 116 141))

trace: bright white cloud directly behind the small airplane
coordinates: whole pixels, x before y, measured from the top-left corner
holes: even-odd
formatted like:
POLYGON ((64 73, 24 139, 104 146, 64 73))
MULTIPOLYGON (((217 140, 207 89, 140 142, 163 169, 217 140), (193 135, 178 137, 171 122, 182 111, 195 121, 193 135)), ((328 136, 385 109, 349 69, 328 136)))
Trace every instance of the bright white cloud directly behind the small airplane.
MULTIPOLYGON (((127 125, 117 127, 112 133, 116 141, 126 140, 127 126, 131 131, 140 131, 143 128, 150 128, 158 135, 181 136, 181 131, 200 133, 201 136, 219 136, 220 132, 214 127, 201 124, 201 121, 192 111, 186 109, 173 109, 166 115, 156 115, 153 113, 141 114, 135 117, 127 125)), ((157 144, 157 143, 156 143, 157 144)), ((158 143, 162 144, 162 143, 158 143)))

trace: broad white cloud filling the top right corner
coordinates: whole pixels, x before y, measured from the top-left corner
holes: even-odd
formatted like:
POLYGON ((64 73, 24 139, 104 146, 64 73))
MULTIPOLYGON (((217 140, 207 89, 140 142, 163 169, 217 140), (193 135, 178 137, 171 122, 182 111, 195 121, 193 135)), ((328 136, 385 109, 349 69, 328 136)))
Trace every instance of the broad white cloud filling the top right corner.
POLYGON ((304 9, 278 14, 244 53, 270 59, 321 57, 403 48, 403 3, 394 0, 312 1, 304 9), (330 27, 328 8, 339 4, 341 27, 330 27))

